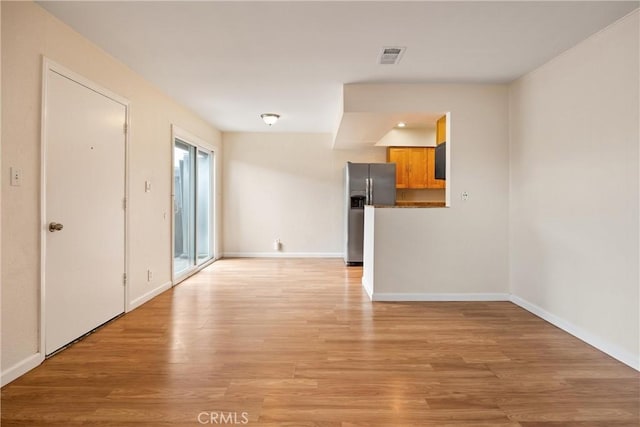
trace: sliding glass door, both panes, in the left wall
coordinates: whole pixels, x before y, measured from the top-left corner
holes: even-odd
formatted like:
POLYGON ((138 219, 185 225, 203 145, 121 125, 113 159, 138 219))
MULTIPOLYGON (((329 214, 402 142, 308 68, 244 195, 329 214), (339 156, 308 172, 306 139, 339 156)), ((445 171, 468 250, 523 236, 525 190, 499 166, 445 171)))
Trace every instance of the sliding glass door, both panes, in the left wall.
POLYGON ((213 258, 213 153, 174 141, 173 275, 213 258))

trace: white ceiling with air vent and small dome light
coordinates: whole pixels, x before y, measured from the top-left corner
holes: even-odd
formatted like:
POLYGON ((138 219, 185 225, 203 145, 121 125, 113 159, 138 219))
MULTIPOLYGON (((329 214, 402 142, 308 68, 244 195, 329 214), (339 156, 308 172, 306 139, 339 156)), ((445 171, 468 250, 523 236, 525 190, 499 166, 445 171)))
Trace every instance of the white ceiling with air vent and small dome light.
POLYGON ((39 4, 222 131, 333 133, 343 84, 509 82, 639 3, 39 4), (406 46, 400 64, 383 46, 406 46))

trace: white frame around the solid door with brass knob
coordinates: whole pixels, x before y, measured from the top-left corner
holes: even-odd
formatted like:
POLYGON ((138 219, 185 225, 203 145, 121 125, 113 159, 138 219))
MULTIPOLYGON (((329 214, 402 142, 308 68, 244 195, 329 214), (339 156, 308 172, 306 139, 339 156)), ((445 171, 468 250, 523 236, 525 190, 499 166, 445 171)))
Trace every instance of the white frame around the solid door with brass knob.
MULTIPOLYGON (((122 104, 125 107, 125 149, 124 149, 124 197, 127 203, 127 207, 125 209, 125 217, 124 217, 124 273, 125 277, 129 277, 129 130, 130 130, 130 120, 129 120, 129 100, 123 98, 122 96, 111 92, 109 89, 106 89, 97 83, 63 67, 62 65, 50 60, 49 58, 43 56, 42 57, 42 118, 41 118, 41 127, 40 127, 40 141, 41 141, 41 152, 40 152, 40 330, 39 333, 39 348, 38 354, 40 363, 45 358, 45 295, 46 295, 46 254, 47 254, 47 195, 45 192, 46 188, 46 154, 47 154, 47 135, 46 135, 46 122, 47 122, 47 88, 49 81, 49 72, 57 73, 63 77, 66 77, 74 82, 90 89, 94 92, 97 92, 119 104, 122 104)), ((123 312, 126 312, 129 307, 129 281, 125 282, 125 291, 124 291, 124 301, 123 304, 123 312)))

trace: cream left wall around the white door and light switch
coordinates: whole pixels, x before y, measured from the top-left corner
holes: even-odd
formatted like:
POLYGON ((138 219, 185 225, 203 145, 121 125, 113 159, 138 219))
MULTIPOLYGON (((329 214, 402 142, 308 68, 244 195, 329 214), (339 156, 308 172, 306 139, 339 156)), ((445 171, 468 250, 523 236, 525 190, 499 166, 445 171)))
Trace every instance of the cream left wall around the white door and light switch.
POLYGON ((212 148, 220 133, 31 2, 2 2, 2 379, 38 352, 42 55, 128 98, 130 104, 129 295, 134 303, 170 281, 171 124, 212 148), (144 192, 144 181, 153 190, 144 192), (154 271, 147 283, 146 270, 154 271))

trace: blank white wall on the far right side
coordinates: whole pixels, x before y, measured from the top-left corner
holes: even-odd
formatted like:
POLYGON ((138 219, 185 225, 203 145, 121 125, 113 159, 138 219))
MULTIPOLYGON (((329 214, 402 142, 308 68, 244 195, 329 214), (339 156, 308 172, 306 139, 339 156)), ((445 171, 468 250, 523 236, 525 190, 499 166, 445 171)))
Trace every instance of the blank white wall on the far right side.
POLYGON ((510 87, 516 301, 638 368, 639 14, 510 87))

